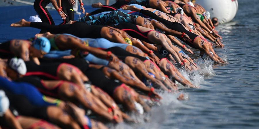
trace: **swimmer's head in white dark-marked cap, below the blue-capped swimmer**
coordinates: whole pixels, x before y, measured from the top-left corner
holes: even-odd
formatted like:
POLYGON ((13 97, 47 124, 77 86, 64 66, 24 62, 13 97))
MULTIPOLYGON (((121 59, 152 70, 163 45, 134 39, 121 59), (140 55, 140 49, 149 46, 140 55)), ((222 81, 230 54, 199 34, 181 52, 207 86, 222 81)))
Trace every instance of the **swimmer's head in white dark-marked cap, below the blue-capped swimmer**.
POLYGON ((7 61, 7 64, 6 73, 12 80, 22 77, 27 72, 26 64, 21 58, 12 58, 7 61))

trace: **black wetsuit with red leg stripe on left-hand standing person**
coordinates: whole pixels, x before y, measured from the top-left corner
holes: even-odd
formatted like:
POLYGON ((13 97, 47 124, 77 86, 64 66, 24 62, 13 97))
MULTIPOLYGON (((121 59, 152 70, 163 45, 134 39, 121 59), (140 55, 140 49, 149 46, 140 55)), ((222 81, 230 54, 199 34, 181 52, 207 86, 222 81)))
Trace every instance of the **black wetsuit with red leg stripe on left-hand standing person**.
MULTIPOLYGON (((54 20, 52 19, 49 11, 46 6, 50 3, 50 0, 35 0, 33 3, 33 7, 35 11, 39 14, 41 21, 47 23, 49 25, 55 25, 54 20)), ((40 33, 46 32, 44 29, 41 30, 40 33)))

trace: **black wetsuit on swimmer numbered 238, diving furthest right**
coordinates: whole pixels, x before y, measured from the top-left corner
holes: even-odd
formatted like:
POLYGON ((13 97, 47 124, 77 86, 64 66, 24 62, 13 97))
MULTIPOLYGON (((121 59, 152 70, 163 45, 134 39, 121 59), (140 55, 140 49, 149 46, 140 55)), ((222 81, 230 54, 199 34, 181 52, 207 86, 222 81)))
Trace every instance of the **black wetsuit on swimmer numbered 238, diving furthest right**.
MULTIPOLYGON (((162 22, 167 28, 171 29, 171 30, 175 30, 178 32, 184 32, 185 34, 187 34, 193 41, 195 40, 196 37, 199 37, 196 34, 193 34, 192 32, 189 32, 188 30, 186 30, 182 24, 178 23, 178 22, 172 22, 172 21, 168 21, 166 19, 163 19, 159 16, 157 16, 155 13, 152 13, 151 11, 148 10, 144 10, 144 9, 140 9, 140 13, 147 15, 157 21, 162 22)), ((167 34, 165 32, 165 34, 167 34)), ((195 46, 193 46, 193 41, 192 42, 188 42, 188 41, 184 41, 182 38, 180 38, 180 36, 177 36, 177 38, 179 38, 180 40, 182 40, 183 42, 185 42, 186 44, 188 44, 189 46, 191 46, 192 48, 195 48, 195 46)))

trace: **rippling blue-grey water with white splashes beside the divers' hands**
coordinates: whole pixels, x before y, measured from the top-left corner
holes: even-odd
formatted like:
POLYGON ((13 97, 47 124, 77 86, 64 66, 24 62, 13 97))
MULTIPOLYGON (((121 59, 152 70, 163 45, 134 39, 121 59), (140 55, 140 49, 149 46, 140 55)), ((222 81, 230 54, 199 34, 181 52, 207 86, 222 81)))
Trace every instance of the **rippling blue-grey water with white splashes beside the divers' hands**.
POLYGON ((191 57, 201 69, 191 74, 181 73, 200 88, 180 90, 187 100, 178 101, 180 93, 166 93, 162 95, 162 105, 153 107, 150 114, 132 116, 139 124, 108 126, 115 129, 259 128, 259 1, 238 2, 239 10, 233 21, 216 28, 225 47, 215 50, 228 64, 204 62, 194 50, 195 55, 191 57))

